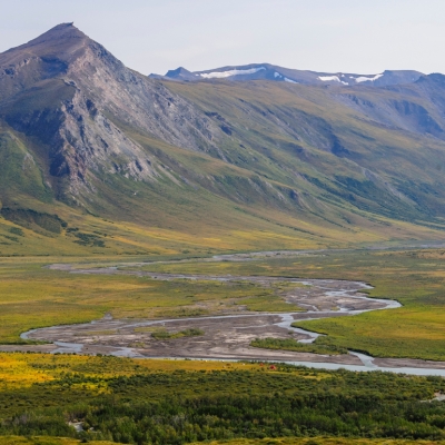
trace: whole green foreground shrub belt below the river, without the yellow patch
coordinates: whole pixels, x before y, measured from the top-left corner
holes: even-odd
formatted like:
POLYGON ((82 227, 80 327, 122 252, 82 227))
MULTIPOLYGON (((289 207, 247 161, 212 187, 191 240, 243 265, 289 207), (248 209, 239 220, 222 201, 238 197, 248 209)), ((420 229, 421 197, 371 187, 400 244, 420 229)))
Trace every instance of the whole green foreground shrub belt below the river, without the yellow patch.
POLYGON ((445 392, 443 378, 286 365, 263 372, 265 367, 102 379, 66 374, 60 380, 33 385, 31 392, 63 394, 100 383, 108 394, 69 406, 18 412, 3 419, 0 434, 138 445, 319 435, 445 439, 445 403, 422 402, 445 392), (82 421, 86 431, 76 433, 68 425, 72 419, 82 421))

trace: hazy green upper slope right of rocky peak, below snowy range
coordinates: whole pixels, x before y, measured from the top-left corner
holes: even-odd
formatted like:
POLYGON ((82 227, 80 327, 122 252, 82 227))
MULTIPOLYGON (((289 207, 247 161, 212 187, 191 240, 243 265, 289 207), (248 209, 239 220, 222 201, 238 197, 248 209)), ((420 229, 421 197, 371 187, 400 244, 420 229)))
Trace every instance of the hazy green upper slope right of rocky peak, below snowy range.
POLYGON ((330 195, 338 205, 348 202, 387 217, 444 215, 438 192, 444 181, 443 141, 377 125, 342 102, 342 96, 354 95, 362 100, 372 96, 384 105, 400 99, 397 92, 260 81, 168 87, 231 126, 226 150, 240 167, 288 187, 304 189, 309 182, 318 188, 316 196, 330 195))

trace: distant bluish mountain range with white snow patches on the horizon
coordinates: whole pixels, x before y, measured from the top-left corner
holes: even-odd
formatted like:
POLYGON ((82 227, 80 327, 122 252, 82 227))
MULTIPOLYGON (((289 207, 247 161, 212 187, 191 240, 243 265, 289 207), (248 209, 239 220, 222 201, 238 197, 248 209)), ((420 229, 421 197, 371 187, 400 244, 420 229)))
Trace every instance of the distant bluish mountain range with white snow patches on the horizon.
POLYGON ((164 80, 182 80, 198 81, 209 79, 226 79, 226 80, 275 80, 289 83, 314 83, 314 85, 340 85, 356 86, 366 85, 383 87, 398 83, 412 83, 418 80, 422 72, 412 70, 388 71, 385 70, 378 75, 353 75, 345 72, 315 72, 295 70, 289 68, 277 67, 270 63, 251 63, 243 66, 231 66, 216 68, 207 71, 188 71, 180 67, 176 70, 170 70, 166 76, 150 75, 155 79, 164 80))

